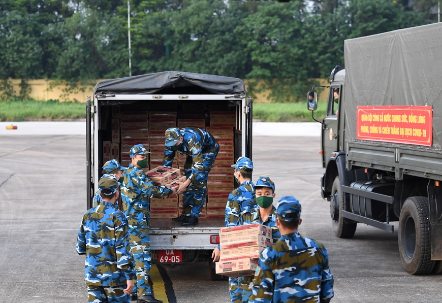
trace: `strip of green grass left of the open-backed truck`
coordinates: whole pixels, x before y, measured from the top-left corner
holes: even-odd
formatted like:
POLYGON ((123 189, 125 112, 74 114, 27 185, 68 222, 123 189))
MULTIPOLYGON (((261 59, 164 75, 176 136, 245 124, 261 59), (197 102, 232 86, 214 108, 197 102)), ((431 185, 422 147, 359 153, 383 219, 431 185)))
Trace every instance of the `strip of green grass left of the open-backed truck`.
POLYGON ((59 121, 86 118, 86 104, 58 100, 0 101, 0 121, 59 121))

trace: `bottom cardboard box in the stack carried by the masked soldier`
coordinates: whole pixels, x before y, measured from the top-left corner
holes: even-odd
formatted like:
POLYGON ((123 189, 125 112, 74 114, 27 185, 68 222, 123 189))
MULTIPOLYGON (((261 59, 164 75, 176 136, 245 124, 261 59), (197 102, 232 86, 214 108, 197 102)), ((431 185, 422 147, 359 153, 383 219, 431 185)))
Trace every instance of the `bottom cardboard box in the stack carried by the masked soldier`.
POLYGON ((215 263, 215 272, 227 277, 244 277, 255 275, 258 260, 250 258, 231 258, 215 263))

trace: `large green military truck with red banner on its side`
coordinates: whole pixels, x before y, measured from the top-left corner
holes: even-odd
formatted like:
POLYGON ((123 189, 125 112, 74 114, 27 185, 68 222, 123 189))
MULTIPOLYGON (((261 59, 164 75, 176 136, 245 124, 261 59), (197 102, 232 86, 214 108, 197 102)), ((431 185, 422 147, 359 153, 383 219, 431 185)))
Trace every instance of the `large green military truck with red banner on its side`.
POLYGON ((436 23, 345 40, 345 68, 333 69, 318 121, 321 194, 336 236, 352 238, 358 223, 393 232, 398 221, 410 274, 442 272, 440 37, 436 23))

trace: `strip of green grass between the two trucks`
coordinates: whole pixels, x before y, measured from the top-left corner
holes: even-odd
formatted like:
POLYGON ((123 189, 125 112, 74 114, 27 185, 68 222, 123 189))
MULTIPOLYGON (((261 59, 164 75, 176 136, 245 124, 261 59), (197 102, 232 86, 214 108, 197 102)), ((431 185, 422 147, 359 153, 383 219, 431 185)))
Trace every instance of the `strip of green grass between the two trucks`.
MULTIPOLYGON (((325 117, 327 103, 318 103, 314 118, 322 120, 325 117)), ((314 122, 307 104, 301 103, 254 103, 253 117, 265 122, 314 122)))

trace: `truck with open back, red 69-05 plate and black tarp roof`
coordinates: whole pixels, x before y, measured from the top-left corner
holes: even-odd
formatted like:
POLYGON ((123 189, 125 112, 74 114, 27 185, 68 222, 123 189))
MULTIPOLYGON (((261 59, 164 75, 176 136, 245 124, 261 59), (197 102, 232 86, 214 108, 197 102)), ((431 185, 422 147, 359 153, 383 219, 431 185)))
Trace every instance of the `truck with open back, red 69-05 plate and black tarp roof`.
MULTIPOLYGON (((92 197, 102 176, 105 162, 103 143, 110 141, 115 134, 116 127, 112 121, 115 112, 128 112, 136 117, 146 111, 172 111, 180 119, 185 118, 185 115, 187 118, 188 115, 195 115, 195 109, 202 115, 206 126, 211 125, 211 110, 234 113, 234 161, 240 156, 251 158, 252 100, 246 99, 245 85, 240 79, 185 72, 160 72, 97 83, 93 97, 88 97, 86 103, 87 208, 92 207, 92 197)), ((133 121, 134 125, 139 123, 137 119, 133 121)), ((165 126, 164 131, 168 127, 170 126, 165 126)), ((118 132, 116 135, 119 134, 118 132)), ((148 135, 134 143, 144 143, 147 137, 148 135)), ((121 150, 122 143, 115 144, 121 150)), ((118 159, 118 156, 113 155, 112 158, 118 159)), ((230 165, 227 166, 230 169, 230 165)), ((188 227, 181 226, 170 218, 150 218, 152 261, 171 264, 208 261, 210 278, 222 279, 215 274, 211 262, 211 253, 219 243, 219 227, 224 227, 224 215, 222 218, 200 218, 199 225, 188 227)))

